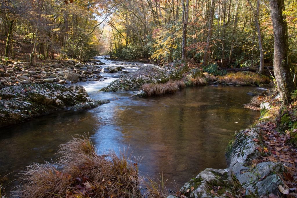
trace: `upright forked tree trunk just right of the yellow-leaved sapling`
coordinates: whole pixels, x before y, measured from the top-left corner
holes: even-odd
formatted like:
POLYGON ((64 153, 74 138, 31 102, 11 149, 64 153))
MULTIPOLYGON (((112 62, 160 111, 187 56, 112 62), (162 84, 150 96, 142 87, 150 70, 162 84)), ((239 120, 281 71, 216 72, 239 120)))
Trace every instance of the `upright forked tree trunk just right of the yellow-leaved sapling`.
POLYGON ((181 60, 187 59, 187 25, 189 20, 189 0, 186 0, 186 4, 184 0, 182 0, 182 7, 183 7, 183 36, 182 36, 182 43, 181 43, 181 60))

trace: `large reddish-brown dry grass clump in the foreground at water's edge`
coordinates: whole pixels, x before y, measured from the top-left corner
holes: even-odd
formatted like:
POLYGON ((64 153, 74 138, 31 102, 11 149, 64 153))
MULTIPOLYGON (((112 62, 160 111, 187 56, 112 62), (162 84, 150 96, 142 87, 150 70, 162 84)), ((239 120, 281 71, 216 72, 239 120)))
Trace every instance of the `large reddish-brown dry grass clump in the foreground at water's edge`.
POLYGON ((61 145, 56 164, 32 164, 23 172, 18 195, 29 197, 139 197, 137 162, 127 152, 99 156, 80 136, 61 145))

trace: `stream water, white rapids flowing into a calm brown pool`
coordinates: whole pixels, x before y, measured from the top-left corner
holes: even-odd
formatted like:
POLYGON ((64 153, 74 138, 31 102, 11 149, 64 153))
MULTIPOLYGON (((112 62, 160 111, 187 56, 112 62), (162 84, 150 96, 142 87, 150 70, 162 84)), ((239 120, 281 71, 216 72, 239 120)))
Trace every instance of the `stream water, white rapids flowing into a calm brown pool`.
MULTIPOLYGON (((136 64, 124 66, 133 72, 144 65, 136 64)), ((226 168, 225 149, 234 132, 259 116, 242 107, 252 97, 247 93, 257 92, 256 87, 208 85, 172 95, 130 98, 131 92, 98 92, 119 77, 102 75, 107 79, 80 84, 92 98, 110 99, 109 104, 82 112, 56 112, 0 129, 1 177, 33 162, 55 161, 61 143, 89 133, 100 153, 109 149, 119 153, 129 146, 134 156, 144 156, 140 175, 159 178, 163 172, 164 178, 182 185, 207 167, 226 168)), ((15 173, 7 181, 16 178, 15 173)))

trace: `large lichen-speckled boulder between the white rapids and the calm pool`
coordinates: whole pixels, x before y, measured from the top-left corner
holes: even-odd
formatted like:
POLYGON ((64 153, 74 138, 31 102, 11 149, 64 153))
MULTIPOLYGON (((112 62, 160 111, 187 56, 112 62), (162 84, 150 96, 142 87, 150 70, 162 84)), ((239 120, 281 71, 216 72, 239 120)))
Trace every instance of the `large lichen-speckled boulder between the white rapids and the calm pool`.
POLYGON ((170 75, 155 66, 144 66, 134 73, 122 76, 101 91, 136 91, 145 83, 165 83, 170 75))

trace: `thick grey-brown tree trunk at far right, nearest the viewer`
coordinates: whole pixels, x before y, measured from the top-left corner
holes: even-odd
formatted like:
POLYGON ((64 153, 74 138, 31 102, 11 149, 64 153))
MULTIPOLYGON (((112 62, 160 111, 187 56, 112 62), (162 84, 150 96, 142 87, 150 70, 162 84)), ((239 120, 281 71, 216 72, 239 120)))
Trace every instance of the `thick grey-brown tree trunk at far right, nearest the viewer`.
POLYGON ((287 22, 282 15, 284 0, 270 0, 269 2, 274 35, 274 75, 283 103, 288 104, 295 84, 290 71, 292 64, 288 56, 287 22))

